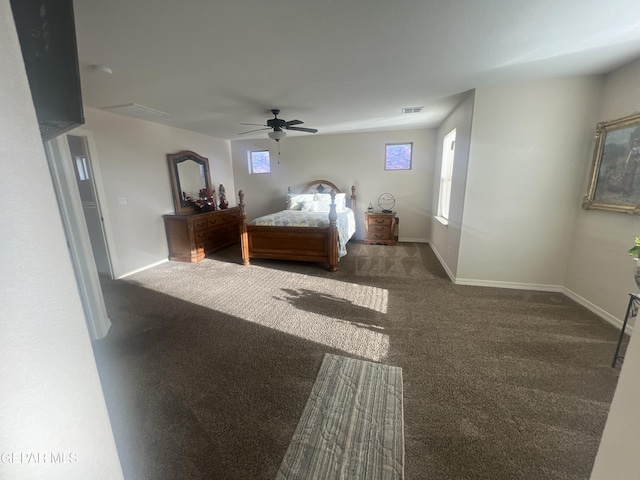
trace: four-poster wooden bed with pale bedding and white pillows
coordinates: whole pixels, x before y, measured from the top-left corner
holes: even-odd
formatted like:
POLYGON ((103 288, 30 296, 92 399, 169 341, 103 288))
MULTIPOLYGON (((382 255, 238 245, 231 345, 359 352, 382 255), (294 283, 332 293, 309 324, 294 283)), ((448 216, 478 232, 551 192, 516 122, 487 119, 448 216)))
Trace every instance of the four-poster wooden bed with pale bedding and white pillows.
POLYGON ((287 209, 247 222, 244 192, 238 193, 242 263, 251 258, 324 263, 330 272, 346 255, 355 233, 356 187, 345 193, 328 180, 307 183, 300 193, 289 189, 287 209))

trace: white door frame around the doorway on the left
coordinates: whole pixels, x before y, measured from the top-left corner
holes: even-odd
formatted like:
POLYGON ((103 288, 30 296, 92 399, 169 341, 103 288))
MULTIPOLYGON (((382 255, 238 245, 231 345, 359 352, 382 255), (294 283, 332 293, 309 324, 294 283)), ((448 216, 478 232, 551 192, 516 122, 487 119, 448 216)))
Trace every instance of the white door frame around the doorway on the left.
MULTIPOLYGON (((84 136, 87 139, 88 153, 91 156, 90 161, 97 194, 96 202, 99 205, 104 205, 104 202, 101 201, 104 198, 104 189, 102 188, 102 176, 100 175, 95 154, 95 143, 93 142, 91 132, 75 129, 45 142, 44 146, 51 170, 51 179, 58 199, 60 216, 67 235, 69 255, 76 274, 76 283, 82 298, 87 327, 91 338, 97 340, 103 338, 109 332, 111 320, 109 319, 104 304, 100 277, 93 257, 80 192, 76 182, 75 171, 71 164, 72 159, 71 152, 69 151, 69 143, 67 142, 67 134, 84 136)), ((109 263, 112 272, 111 278, 113 278, 115 258, 113 252, 109 250, 109 245, 113 245, 112 242, 109 242, 110 222, 106 208, 101 208, 100 211, 103 217, 102 225, 106 237, 107 251, 109 253, 109 263)))

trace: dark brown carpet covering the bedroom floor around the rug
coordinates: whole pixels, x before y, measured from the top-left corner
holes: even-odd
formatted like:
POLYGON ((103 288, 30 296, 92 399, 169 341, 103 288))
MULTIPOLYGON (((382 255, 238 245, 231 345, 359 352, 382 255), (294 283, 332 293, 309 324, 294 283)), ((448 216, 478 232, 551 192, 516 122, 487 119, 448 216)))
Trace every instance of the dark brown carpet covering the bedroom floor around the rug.
POLYGON ((103 281, 127 480, 275 478, 325 353, 402 368, 407 479, 589 478, 618 330, 559 293, 453 285, 426 244, 348 250, 335 273, 230 247, 103 281))

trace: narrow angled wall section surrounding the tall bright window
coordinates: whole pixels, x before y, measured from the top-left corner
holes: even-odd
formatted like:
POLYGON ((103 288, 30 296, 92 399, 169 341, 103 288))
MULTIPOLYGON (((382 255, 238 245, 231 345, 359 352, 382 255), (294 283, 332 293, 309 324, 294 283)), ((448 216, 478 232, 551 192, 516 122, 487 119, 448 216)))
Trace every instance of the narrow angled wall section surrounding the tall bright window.
POLYGON ((469 147, 473 120, 474 92, 470 92, 438 128, 436 168, 433 183, 433 211, 431 212, 431 246, 443 264, 449 276, 456 276, 460 235, 464 212, 464 197, 467 186, 467 168, 469 165, 469 147), (456 146, 453 160, 453 178, 451 183, 451 203, 449 223, 443 225, 435 219, 438 213, 440 172, 442 169, 442 142, 444 137, 456 129, 456 146))

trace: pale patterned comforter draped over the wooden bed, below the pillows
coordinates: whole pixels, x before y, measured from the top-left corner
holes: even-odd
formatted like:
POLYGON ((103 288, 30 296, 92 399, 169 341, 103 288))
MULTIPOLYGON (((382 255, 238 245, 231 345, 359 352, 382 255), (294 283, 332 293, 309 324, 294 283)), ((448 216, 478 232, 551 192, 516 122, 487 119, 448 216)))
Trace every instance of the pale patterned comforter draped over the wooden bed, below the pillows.
MULTIPOLYGON (((282 210, 264 217, 256 218, 249 225, 271 225, 281 227, 328 227, 328 212, 307 212, 301 210, 282 210)), ((347 254, 347 242, 356 232, 356 219, 353 210, 345 208, 338 212, 338 257, 347 254)))

